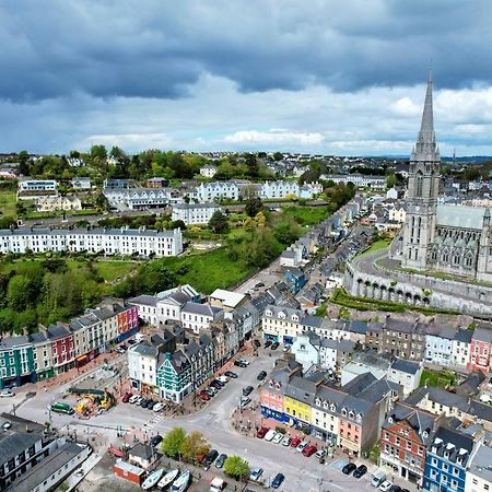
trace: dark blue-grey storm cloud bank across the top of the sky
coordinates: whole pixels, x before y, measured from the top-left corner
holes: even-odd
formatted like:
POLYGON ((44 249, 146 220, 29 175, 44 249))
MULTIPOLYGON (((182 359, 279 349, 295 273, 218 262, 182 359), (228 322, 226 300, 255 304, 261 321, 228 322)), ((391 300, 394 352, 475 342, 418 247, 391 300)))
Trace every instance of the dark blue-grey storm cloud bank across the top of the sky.
POLYGON ((492 80, 489 0, 0 3, 0 97, 179 98, 203 73, 241 91, 492 80))

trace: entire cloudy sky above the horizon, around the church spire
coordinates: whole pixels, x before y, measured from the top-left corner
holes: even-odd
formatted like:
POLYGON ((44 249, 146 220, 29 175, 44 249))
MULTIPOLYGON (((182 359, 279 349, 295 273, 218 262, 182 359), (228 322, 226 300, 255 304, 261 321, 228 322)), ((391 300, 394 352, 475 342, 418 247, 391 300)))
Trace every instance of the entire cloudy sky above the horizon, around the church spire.
POLYGON ((490 0, 2 0, 0 152, 492 154, 490 0))

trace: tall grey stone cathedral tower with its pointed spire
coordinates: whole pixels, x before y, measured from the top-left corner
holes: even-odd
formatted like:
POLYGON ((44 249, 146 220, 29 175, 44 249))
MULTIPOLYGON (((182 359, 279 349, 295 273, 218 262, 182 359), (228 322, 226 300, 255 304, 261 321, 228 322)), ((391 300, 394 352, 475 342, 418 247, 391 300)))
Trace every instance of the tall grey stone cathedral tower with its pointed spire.
POLYGON ((425 270, 430 266, 436 225, 441 157, 435 141, 432 74, 429 74, 422 124, 410 157, 408 210, 403 229, 402 267, 425 270))

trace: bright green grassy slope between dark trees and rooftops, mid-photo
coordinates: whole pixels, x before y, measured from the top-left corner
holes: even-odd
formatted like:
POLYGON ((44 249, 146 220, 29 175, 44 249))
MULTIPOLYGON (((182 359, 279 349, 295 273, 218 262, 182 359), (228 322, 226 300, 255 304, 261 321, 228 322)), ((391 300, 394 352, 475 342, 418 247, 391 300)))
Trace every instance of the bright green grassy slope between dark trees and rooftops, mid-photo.
POLYGON ((234 285, 255 270, 255 267, 245 267, 239 261, 233 261, 226 248, 166 258, 164 263, 176 272, 179 283, 190 283, 206 294, 215 289, 234 285))

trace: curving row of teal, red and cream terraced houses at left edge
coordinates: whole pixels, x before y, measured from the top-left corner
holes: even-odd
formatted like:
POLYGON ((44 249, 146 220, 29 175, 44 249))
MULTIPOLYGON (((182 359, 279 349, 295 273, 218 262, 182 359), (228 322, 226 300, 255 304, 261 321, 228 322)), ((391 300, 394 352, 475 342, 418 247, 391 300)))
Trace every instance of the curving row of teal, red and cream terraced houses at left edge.
POLYGON ((105 298, 70 323, 39 326, 35 333, 0 340, 0 387, 52 377, 80 367, 139 327, 137 307, 105 298))

